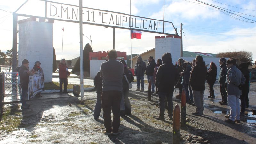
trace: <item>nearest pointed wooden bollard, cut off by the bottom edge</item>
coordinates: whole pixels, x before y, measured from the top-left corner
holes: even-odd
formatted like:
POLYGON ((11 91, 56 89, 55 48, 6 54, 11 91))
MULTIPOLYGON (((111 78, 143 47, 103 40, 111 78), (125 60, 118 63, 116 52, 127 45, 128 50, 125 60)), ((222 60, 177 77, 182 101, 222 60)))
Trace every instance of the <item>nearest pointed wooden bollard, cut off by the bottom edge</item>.
POLYGON ((173 110, 172 144, 180 143, 180 107, 175 105, 173 110))

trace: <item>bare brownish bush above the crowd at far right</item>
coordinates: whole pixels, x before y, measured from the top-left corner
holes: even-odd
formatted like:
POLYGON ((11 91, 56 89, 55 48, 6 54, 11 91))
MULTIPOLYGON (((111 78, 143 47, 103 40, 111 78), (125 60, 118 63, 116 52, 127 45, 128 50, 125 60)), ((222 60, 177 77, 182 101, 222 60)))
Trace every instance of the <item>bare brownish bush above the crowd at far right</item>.
POLYGON ((234 51, 234 52, 219 52, 217 57, 221 58, 235 58, 240 59, 241 62, 252 61, 252 52, 247 51, 234 51))

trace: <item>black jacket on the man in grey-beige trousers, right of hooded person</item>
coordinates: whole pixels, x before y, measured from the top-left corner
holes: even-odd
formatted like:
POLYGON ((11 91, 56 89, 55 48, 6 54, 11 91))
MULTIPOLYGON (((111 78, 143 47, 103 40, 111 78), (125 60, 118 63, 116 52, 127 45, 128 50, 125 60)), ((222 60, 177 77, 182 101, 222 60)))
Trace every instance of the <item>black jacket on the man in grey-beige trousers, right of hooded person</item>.
POLYGON ((189 85, 192 90, 195 91, 204 91, 205 90, 205 77, 207 74, 207 67, 205 66, 205 62, 197 61, 195 66, 192 67, 189 85))

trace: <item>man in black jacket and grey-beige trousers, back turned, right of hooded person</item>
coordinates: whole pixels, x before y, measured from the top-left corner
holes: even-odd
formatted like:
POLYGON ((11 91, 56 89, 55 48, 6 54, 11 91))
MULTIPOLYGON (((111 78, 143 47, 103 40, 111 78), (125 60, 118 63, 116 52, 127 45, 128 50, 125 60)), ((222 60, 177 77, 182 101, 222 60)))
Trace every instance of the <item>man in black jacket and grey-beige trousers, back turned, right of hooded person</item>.
POLYGON ((193 98, 196 105, 196 112, 192 115, 201 116, 204 111, 204 90, 205 90, 205 77, 207 74, 207 67, 203 57, 200 55, 196 56, 195 66, 192 67, 189 85, 193 91, 193 98))

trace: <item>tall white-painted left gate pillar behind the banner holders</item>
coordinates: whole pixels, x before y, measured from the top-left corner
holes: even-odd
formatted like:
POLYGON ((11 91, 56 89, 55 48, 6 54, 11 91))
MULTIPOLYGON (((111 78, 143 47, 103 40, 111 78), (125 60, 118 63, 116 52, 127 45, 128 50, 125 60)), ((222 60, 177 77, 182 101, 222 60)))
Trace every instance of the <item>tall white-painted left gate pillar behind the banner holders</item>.
POLYGON ((52 23, 28 21, 19 24, 18 65, 27 59, 29 68, 32 69, 35 62, 40 61, 44 71, 44 82, 52 82, 52 38, 52 23))

